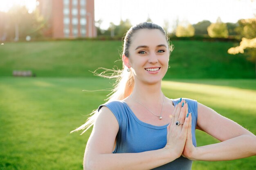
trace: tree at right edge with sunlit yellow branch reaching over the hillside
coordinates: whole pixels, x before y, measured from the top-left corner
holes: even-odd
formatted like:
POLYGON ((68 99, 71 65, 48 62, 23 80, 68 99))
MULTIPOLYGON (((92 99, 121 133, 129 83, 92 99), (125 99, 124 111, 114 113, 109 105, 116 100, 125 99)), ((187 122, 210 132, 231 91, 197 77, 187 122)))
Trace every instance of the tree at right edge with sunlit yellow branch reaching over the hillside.
POLYGON ((245 53, 247 59, 255 63, 256 74, 256 17, 238 20, 238 24, 236 31, 240 33, 242 40, 239 46, 228 49, 228 53, 245 53))

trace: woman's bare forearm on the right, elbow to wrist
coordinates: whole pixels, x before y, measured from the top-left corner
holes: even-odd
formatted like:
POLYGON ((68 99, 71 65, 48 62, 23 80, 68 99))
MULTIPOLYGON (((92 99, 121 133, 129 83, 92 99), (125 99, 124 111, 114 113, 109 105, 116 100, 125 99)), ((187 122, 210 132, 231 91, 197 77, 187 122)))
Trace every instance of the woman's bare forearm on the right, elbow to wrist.
POLYGON ((189 159, 227 161, 254 155, 256 155, 256 137, 244 134, 220 143, 197 147, 189 159))

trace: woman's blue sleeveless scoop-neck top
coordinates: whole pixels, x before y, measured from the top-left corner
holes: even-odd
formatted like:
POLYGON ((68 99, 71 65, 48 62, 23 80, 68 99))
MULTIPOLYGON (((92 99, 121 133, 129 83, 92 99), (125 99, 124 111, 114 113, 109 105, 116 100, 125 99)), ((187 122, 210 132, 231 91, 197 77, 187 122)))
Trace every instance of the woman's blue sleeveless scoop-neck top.
MULTIPOLYGON (((183 98, 184 99, 184 98, 183 98)), ((174 106, 177 105, 179 98, 171 99, 174 106)), ((186 99, 189 113, 192 116, 192 141, 196 146, 195 127, 198 118, 197 101, 186 99)), ((124 101, 110 101, 99 106, 108 107, 115 115, 119 130, 117 133, 117 144, 113 153, 138 153, 149 150, 164 148, 167 143, 167 125, 155 126, 140 121, 124 101)), ((191 170, 192 161, 180 157, 154 170, 191 170)))

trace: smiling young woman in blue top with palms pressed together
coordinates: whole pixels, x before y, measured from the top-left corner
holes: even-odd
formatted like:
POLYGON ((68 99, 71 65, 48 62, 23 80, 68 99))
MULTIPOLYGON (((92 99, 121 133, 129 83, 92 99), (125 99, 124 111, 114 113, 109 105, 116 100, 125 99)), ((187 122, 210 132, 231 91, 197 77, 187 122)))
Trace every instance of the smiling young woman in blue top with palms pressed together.
MULTIPOLYGON (((151 22, 131 27, 124 39, 124 68, 109 101, 77 130, 92 125, 86 170, 191 170, 193 160, 224 161, 256 155, 256 136, 191 99, 161 91, 172 46, 151 22), (196 147, 195 129, 220 143, 196 147)), ((84 132, 85 132, 84 131, 84 132)))

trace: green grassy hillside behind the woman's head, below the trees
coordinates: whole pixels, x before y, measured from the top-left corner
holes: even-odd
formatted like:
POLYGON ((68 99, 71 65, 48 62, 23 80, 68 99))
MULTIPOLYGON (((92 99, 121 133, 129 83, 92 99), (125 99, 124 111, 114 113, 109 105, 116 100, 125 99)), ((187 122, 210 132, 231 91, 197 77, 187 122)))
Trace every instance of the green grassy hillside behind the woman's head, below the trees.
MULTIPOLYGON (((166 78, 255 78, 254 64, 227 54, 233 42, 174 40, 166 78)), ((32 70, 42 77, 93 76, 98 67, 121 68, 121 41, 63 40, 0 45, 0 76, 32 70), (117 62, 115 62, 117 61, 117 62)))

